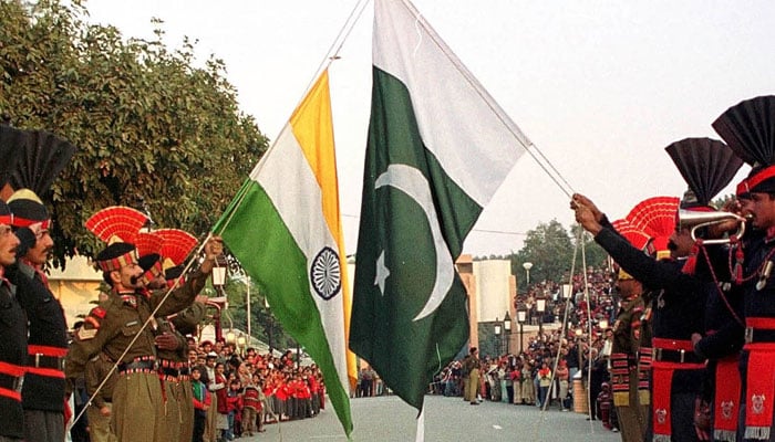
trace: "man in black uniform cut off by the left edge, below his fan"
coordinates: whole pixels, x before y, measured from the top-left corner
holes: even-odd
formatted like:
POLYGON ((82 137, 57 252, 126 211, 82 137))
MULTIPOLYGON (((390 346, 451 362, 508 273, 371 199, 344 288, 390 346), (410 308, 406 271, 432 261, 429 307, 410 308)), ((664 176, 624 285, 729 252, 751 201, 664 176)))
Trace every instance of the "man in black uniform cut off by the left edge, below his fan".
POLYGON ((27 362, 27 316, 16 288, 4 275, 4 270, 17 261, 19 245, 11 230, 12 220, 8 204, 0 201, 0 442, 24 438, 21 388, 27 362))

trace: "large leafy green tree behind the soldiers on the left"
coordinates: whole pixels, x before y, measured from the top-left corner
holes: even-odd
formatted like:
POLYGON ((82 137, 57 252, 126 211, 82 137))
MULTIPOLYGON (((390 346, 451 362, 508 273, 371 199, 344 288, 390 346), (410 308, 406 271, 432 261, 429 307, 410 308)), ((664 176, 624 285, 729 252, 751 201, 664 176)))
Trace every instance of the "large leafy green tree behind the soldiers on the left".
POLYGON ((122 204, 197 235, 236 194, 267 138, 238 108, 223 61, 85 22, 79 1, 0 1, 0 113, 79 147, 54 182, 55 265, 101 248, 83 222, 122 204))

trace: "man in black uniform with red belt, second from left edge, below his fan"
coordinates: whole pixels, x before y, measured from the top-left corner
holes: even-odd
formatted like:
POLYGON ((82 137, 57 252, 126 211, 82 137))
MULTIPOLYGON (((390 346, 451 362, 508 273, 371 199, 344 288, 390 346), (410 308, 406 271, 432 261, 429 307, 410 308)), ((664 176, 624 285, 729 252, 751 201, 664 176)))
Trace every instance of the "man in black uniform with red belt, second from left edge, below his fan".
POLYGON ((41 270, 54 243, 49 233, 51 217, 43 202, 29 189, 9 199, 13 229, 20 238, 17 249, 17 296, 29 323, 28 364, 22 404, 24 439, 29 442, 64 440, 65 381, 62 362, 68 354, 68 325, 62 305, 51 293, 41 270))

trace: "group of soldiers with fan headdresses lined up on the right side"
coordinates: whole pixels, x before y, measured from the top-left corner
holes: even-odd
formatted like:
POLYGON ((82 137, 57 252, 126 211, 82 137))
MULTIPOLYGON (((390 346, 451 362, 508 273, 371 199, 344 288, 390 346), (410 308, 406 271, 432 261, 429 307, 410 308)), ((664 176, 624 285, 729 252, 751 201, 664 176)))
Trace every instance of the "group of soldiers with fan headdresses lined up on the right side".
POLYGON ((623 223, 583 196, 570 203, 630 296, 611 357, 623 440, 775 440, 775 96, 744 101, 713 127, 725 143, 665 148, 689 186, 680 201, 642 202, 623 223), (712 199, 743 162, 751 172, 717 211, 712 199))

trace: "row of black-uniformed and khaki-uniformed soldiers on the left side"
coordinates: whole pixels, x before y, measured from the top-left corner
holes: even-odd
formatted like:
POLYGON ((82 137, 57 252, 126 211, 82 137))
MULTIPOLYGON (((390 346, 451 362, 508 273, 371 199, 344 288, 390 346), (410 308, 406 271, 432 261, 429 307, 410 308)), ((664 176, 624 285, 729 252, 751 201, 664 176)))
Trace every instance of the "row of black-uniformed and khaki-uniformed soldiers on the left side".
MULTIPOLYGON (((101 229, 115 233, 121 224, 113 217, 101 229)), ((196 239, 182 231, 135 232, 143 256, 130 242, 107 245, 95 261, 111 292, 69 346, 62 307, 41 271, 53 248, 50 227, 31 190, 0 200, 0 441, 63 441, 69 381, 81 376, 94 394, 92 441, 190 441, 184 335, 204 317, 206 297, 197 294, 223 253, 220 239, 205 244, 204 261, 185 283, 180 264, 196 239), (163 256, 177 265, 164 272, 163 256)))

